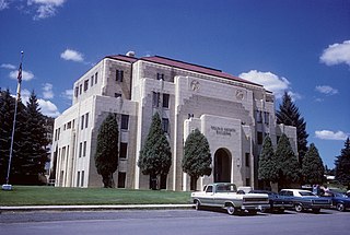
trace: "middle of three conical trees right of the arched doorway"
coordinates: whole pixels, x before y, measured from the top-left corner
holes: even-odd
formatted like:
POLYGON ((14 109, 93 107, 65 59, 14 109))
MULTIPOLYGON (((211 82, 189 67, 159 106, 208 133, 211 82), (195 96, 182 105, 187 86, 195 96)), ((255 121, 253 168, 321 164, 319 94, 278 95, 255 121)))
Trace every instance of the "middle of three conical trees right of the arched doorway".
POLYGON ((300 183, 300 164, 291 148, 288 137, 283 133, 278 141, 276 152, 278 169, 278 187, 291 187, 292 184, 300 183))

